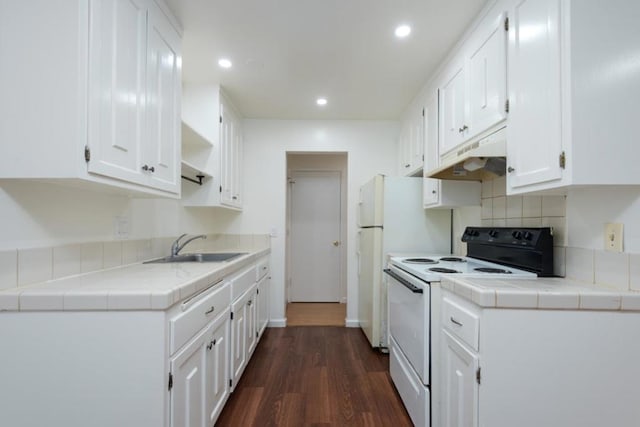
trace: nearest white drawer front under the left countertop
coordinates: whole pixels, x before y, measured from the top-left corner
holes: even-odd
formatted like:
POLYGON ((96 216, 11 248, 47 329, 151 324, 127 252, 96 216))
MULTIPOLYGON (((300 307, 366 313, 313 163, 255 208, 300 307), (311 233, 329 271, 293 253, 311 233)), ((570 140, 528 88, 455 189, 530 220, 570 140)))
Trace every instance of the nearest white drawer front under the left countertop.
POLYGON ((169 320, 171 330, 170 353, 191 339, 208 322, 218 317, 231 304, 231 287, 229 283, 214 286, 201 295, 199 300, 183 313, 169 320))

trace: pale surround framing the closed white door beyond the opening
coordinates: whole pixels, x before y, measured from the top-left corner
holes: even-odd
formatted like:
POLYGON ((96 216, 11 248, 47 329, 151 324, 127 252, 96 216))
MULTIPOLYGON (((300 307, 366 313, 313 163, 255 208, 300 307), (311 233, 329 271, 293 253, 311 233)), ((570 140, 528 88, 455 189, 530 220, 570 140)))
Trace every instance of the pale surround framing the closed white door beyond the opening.
POLYGON ((291 302, 291 175, 296 172, 338 172, 340 174, 340 275, 339 289, 342 304, 347 302, 347 201, 348 201, 348 153, 347 152, 287 152, 286 191, 286 239, 285 239, 285 305, 291 302), (293 161, 294 158, 300 159, 293 161), (340 163, 337 165, 336 163, 340 163))

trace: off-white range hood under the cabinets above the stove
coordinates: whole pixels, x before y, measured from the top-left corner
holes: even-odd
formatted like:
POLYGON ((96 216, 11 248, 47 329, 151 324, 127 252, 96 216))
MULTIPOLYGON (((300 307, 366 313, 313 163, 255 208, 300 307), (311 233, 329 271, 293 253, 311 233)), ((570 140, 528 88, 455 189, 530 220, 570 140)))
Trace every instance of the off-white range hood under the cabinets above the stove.
POLYGON ((505 174, 507 129, 474 138, 440 158, 440 166, 427 171, 425 177, 459 180, 482 180, 487 173, 505 174))

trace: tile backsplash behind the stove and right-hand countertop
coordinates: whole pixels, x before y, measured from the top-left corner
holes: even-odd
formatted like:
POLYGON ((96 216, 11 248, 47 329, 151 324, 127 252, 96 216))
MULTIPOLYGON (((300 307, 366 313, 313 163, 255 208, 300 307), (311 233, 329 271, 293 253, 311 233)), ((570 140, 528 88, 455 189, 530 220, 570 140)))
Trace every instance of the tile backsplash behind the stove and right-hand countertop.
MULTIPOLYGON (((557 276, 620 290, 640 291, 640 254, 569 246, 566 196, 507 196, 506 178, 482 182, 479 225, 484 227, 553 227, 557 276)), ((465 218, 469 221, 469 218, 465 218)), ((456 236, 465 225, 455 224, 456 236)), ((459 244, 458 254, 466 247, 459 244)))

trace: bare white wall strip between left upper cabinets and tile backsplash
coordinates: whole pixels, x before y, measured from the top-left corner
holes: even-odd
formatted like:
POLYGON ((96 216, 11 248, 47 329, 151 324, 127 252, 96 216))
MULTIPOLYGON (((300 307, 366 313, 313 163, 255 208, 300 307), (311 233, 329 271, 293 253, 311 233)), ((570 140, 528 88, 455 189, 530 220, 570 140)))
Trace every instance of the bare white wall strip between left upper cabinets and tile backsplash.
POLYGON ((220 232, 233 218, 212 209, 185 209, 179 200, 0 182, 0 250, 114 240, 116 216, 128 219, 129 239, 220 232))

